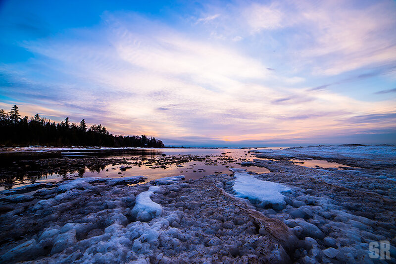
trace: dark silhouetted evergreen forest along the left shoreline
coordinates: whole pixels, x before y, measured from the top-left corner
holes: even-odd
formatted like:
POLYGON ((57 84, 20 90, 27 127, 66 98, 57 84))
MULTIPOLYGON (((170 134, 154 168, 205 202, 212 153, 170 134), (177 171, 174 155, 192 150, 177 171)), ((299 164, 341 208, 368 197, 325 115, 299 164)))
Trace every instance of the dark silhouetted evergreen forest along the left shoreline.
POLYGON ((100 124, 88 128, 84 119, 76 124, 70 123, 69 117, 60 123, 51 122, 39 114, 21 118, 16 105, 9 112, 0 110, 0 145, 164 147, 162 141, 146 135, 112 135, 100 124))

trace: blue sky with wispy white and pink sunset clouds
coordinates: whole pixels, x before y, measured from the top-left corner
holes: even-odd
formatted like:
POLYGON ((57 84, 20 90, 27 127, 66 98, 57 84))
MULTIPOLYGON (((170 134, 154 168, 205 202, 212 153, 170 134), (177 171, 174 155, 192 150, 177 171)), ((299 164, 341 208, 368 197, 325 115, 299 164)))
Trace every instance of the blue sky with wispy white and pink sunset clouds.
POLYGON ((167 146, 396 143, 396 1, 0 1, 0 108, 167 146))

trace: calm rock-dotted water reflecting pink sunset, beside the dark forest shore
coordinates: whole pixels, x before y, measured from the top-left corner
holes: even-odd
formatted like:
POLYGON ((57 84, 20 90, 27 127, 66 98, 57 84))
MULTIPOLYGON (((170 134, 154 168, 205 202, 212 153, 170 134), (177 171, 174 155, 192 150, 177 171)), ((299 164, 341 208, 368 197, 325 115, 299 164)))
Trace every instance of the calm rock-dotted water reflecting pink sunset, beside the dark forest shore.
POLYGON ((56 158, 13 161, 12 166, 5 168, 5 172, 12 173, 13 177, 7 177, 2 181, 0 190, 33 182, 56 182, 77 177, 118 178, 142 175, 150 181, 174 175, 184 175, 186 179, 198 179, 210 174, 231 174, 230 168, 244 168, 258 174, 270 172, 263 167, 242 166, 242 162, 252 161, 255 158, 248 151, 249 149, 169 148, 143 152, 140 150, 137 154, 109 155, 105 158, 100 157, 103 154, 99 155, 100 158, 95 158, 97 152, 61 152, 56 154, 56 158), (98 163, 95 163, 96 159, 98 163), (90 164, 84 165, 87 161, 90 164), (50 167, 53 167, 54 172, 46 173, 49 167, 46 162, 51 162, 50 167), (121 170, 122 167, 126 170, 121 170))

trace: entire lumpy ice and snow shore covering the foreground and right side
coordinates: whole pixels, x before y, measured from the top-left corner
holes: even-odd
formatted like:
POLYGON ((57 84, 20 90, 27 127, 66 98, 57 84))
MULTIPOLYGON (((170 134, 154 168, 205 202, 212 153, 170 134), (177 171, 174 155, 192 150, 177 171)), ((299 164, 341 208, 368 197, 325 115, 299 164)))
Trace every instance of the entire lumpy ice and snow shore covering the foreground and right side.
POLYGON ((0 263, 396 263, 395 147, 375 149, 257 151, 254 165, 271 171, 260 175, 79 178, 2 191, 0 263), (389 260, 370 254, 380 241, 390 243, 389 260))

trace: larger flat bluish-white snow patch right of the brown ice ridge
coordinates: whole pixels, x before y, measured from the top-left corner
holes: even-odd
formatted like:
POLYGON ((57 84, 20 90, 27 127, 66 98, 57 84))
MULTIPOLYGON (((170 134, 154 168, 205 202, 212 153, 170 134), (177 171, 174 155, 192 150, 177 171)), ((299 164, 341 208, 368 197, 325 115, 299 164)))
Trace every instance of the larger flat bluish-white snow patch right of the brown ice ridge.
POLYGON ((246 170, 232 169, 232 171, 235 172, 236 177, 233 186, 236 197, 248 199, 262 208, 268 205, 276 210, 285 208, 285 196, 282 192, 292 192, 289 187, 276 182, 259 180, 248 174, 246 170))

